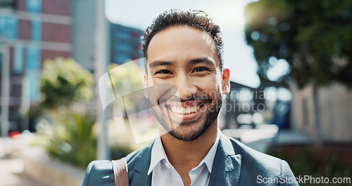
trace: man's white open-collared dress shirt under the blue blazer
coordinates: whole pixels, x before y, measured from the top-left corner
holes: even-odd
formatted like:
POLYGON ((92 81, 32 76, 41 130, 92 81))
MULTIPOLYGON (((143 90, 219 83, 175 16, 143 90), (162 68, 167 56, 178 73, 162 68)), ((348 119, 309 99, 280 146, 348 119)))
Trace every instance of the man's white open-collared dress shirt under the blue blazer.
MULTIPOLYGON (((191 186, 204 186, 209 184, 211 169, 213 168, 213 161, 216 149, 218 149, 219 139, 220 129, 218 128, 218 134, 213 147, 210 148, 208 154, 206 154, 201 163, 189 171, 191 186)), ((153 172, 153 175, 151 176, 151 186, 183 185, 180 174, 177 173, 168 160, 168 156, 165 154, 160 135, 156 137, 153 148, 151 149, 151 164, 149 166, 148 175, 150 175, 151 172, 153 172)))

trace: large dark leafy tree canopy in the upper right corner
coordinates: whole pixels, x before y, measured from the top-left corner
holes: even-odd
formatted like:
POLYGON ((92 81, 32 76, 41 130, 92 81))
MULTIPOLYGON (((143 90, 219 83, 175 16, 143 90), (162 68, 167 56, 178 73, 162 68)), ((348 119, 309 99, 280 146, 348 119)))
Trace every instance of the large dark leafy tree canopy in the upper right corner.
POLYGON ((352 1, 259 0, 246 6, 246 41, 258 75, 267 77, 271 56, 291 66, 303 87, 341 82, 352 87, 352 1))

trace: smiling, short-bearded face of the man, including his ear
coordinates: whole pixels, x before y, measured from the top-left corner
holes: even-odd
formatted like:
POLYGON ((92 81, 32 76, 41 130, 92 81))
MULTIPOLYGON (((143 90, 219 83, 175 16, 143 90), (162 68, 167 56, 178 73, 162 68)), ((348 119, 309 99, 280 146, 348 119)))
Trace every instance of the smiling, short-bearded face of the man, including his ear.
POLYGON ((153 113, 163 126, 161 132, 191 141, 217 124, 222 94, 229 91, 230 73, 227 69, 224 75, 220 72, 215 44, 208 33, 188 26, 168 27, 151 39, 147 56, 146 86, 165 85, 147 92, 153 113), (165 96, 173 87, 176 94, 165 96))

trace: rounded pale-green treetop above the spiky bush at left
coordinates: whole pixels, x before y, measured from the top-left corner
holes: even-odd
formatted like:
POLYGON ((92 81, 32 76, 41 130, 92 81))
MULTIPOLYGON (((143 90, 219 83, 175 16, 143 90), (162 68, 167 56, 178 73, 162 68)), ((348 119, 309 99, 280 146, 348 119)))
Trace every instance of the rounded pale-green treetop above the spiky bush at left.
POLYGON ((70 58, 56 58, 44 61, 40 91, 42 98, 39 106, 55 109, 70 106, 77 101, 92 99, 92 73, 70 58))

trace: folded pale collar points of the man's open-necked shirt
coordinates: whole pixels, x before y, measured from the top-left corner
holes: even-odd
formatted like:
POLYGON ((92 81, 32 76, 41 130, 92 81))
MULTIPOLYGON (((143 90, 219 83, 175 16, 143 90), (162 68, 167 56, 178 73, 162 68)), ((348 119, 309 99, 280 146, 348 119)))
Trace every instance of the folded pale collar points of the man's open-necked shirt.
MULTIPOLYGON (((216 154, 216 149, 218 149, 219 140, 220 140, 220 129, 218 128, 216 140, 213 146, 210 148, 210 150, 208 151, 208 154, 206 154, 206 156, 201 161, 201 163, 199 163, 199 165, 196 166, 196 168, 199 168, 200 166, 203 165, 203 163, 206 163, 206 167, 208 168, 209 173, 211 173, 211 170, 213 168, 213 161, 216 154)), ((158 135, 151 149, 151 164, 149 166, 148 175, 150 175, 150 173, 153 171, 156 165, 158 165, 158 163, 163 160, 169 162, 168 156, 166 156, 165 149, 163 147, 163 143, 161 142, 161 137, 160 135, 158 135)))

